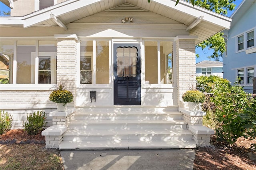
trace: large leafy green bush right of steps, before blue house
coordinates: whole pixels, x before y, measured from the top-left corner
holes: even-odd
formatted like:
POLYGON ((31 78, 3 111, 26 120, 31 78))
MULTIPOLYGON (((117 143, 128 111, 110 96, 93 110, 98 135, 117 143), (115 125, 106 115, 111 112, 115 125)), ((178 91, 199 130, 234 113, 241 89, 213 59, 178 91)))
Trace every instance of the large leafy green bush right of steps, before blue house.
POLYGON ((212 101, 217 106, 214 118, 217 140, 232 145, 246 132, 246 122, 239 115, 248 107, 249 94, 241 86, 222 85, 214 90, 212 101))

